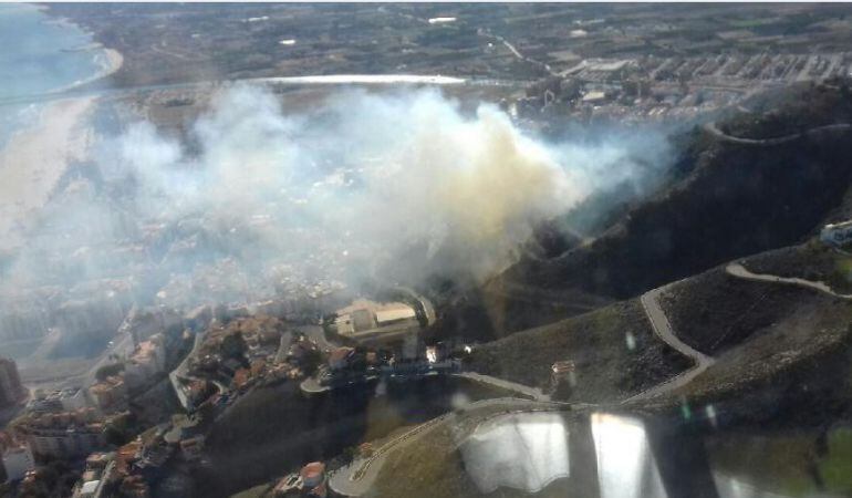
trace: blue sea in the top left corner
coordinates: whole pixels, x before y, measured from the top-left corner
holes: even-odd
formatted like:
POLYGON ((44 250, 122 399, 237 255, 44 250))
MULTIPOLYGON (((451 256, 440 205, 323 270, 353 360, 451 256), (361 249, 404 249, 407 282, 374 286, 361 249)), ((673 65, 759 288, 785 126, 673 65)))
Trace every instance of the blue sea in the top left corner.
MULTIPOLYGON (((0 4, 0 98, 71 86, 96 75, 103 51, 82 29, 59 22, 35 6, 0 4)), ((39 105, 0 107, 0 147, 35 124, 39 105)))

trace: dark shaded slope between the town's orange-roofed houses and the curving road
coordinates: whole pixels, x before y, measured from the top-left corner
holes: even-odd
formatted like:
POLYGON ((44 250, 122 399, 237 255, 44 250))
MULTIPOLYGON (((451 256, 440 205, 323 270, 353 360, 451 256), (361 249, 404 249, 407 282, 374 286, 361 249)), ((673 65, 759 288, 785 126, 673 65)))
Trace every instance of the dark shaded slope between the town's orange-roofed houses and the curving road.
POLYGON ((383 396, 375 395, 374 384, 315 396, 303 395, 294 382, 259 387, 237 400, 212 425, 206 442, 210 463, 198 471, 198 496, 229 496, 308 461, 331 459, 346 448, 449 412, 458 396, 477 401, 503 395, 450 377, 391 382, 383 396))

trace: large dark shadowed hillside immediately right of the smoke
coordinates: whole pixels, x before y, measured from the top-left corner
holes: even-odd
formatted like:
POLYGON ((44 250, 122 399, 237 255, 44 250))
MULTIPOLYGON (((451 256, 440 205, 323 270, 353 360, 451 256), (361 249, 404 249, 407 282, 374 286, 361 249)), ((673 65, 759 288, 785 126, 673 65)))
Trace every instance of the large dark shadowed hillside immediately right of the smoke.
MULTIPOLYGON (((815 86, 775 114, 731 120, 746 136, 771 135, 777 116, 791 113, 798 113, 799 128, 852 122, 849 100, 842 90, 815 86)), ((844 212, 852 179, 848 131, 771 145, 735 143, 706 131, 692 139, 689 155, 677 162, 683 177, 669 188, 633 207, 592 243, 548 260, 521 260, 486 292, 528 286, 624 299, 724 261, 797 243, 844 212)))

